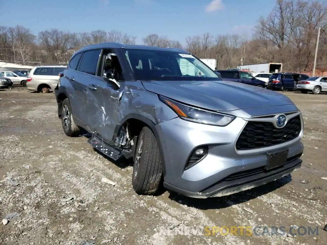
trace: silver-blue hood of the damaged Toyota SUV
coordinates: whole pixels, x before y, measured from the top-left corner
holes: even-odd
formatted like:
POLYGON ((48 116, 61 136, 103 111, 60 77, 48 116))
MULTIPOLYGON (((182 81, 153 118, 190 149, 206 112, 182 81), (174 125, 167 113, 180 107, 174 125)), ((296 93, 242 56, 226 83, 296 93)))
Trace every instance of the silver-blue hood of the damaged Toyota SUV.
POLYGON ((143 81, 142 84, 150 92, 215 111, 294 104, 281 93, 231 81, 143 81))

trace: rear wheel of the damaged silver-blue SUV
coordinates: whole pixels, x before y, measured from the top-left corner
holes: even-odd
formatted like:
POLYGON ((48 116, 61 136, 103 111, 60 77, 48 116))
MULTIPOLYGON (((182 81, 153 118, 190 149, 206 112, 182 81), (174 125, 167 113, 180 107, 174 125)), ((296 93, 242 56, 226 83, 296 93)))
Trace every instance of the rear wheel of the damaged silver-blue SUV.
POLYGON ((72 108, 67 98, 61 104, 61 124, 64 133, 69 137, 78 137, 82 133, 82 129, 74 123, 72 108))

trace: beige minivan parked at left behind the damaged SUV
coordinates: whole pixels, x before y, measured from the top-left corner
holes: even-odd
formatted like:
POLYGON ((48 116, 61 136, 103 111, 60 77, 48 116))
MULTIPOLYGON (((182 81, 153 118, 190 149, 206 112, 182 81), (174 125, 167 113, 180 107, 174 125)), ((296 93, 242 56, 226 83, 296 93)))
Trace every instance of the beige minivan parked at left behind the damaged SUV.
POLYGON ((59 73, 65 68, 62 65, 33 67, 28 73, 26 89, 43 93, 53 91, 57 86, 59 73))

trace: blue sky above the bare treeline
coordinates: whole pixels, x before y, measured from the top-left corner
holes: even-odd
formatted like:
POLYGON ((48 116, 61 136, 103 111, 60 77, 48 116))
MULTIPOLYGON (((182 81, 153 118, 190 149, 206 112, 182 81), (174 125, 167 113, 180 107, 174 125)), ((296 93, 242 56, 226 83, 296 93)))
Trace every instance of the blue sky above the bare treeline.
POLYGON ((248 34, 275 0, 11 0, 0 1, 0 25, 23 25, 34 34, 119 30, 142 37, 156 33, 185 44, 185 37, 210 32, 248 34))

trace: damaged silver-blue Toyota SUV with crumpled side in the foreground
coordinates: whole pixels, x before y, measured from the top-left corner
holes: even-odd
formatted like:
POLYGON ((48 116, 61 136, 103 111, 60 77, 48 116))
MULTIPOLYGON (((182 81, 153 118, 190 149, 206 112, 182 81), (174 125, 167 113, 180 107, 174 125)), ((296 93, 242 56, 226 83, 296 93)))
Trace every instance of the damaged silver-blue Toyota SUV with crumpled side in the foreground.
POLYGON ((84 47, 55 89, 67 136, 117 160, 133 158, 132 186, 154 194, 223 196, 301 166, 303 119, 281 93, 221 80, 193 55, 149 46, 84 47))

